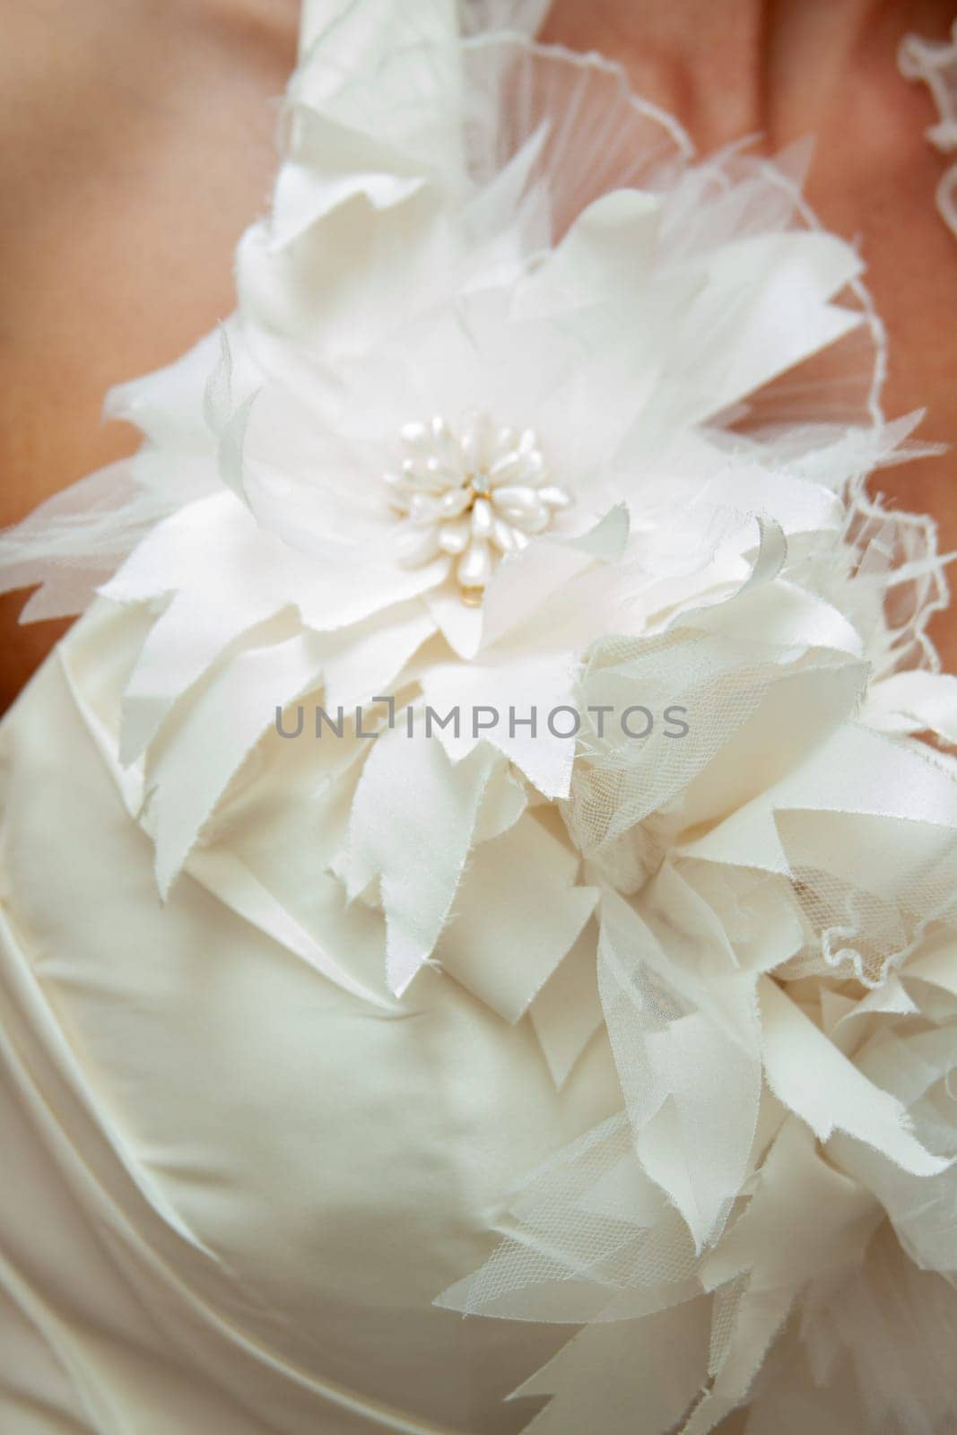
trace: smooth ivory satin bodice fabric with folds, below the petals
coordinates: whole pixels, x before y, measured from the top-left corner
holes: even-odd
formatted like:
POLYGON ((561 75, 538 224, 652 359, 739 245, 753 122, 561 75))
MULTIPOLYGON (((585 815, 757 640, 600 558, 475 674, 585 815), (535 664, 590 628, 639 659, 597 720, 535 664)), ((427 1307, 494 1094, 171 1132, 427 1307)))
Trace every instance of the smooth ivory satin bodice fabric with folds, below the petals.
POLYGON ((0 726, 0 1431, 518 1431, 567 1327, 432 1300, 614 1109, 604 1042, 560 1096, 453 982, 389 1016, 189 877, 162 905, 67 680, 85 641, 109 686, 98 621, 0 726))

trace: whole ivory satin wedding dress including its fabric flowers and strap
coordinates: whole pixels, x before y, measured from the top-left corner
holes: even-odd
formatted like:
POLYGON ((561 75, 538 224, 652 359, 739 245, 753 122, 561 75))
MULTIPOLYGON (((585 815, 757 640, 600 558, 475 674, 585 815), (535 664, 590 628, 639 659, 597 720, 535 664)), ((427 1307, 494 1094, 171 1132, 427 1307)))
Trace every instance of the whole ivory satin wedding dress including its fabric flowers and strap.
POLYGON ((0 537, 4 1435, 957 1426, 914 420, 803 152, 544 9, 307 4, 235 314, 0 537))

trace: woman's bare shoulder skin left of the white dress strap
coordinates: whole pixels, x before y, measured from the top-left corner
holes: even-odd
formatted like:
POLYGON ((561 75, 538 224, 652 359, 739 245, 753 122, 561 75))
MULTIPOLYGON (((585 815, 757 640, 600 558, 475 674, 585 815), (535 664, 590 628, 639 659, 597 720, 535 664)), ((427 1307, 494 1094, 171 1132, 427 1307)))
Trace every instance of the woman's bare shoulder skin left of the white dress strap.
MULTIPOLYGON (((109 385, 232 307, 267 204, 293 0, 7 0, 0 49, 0 525, 135 442, 109 385)), ((0 600, 0 709, 55 636, 0 600)))

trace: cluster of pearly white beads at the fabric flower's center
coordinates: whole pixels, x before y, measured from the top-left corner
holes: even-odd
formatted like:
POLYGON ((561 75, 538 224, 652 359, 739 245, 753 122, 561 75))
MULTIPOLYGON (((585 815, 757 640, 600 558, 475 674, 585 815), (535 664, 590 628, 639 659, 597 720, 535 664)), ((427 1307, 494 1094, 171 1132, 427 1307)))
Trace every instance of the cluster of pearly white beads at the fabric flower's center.
POLYGON ((496 428, 475 413, 458 429, 439 416, 406 423, 399 438, 402 468, 386 482, 402 519, 402 561, 449 554, 462 601, 478 606, 495 564, 551 528, 571 498, 551 482, 534 429, 496 428))

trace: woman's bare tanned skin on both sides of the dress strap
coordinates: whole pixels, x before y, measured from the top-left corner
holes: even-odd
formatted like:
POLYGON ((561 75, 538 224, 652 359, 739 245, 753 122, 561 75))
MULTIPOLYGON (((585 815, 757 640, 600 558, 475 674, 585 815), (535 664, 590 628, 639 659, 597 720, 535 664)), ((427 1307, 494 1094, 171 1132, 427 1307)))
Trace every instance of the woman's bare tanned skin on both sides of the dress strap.
MULTIPOLYGON (((808 133, 808 197, 857 238, 891 336, 885 409, 925 408, 957 443, 957 248, 934 208, 937 118, 897 70, 915 30, 944 39, 953 0, 555 0, 545 39, 620 60, 707 154, 808 133)), ((7 0, 0 55, 0 525, 136 435, 105 390, 175 359, 232 309, 231 255, 268 202, 294 0, 7 0)), ((950 456, 881 475, 957 548, 950 456)), ((0 707, 65 624, 17 627, 0 598, 0 707)), ((957 618, 931 633, 957 667, 957 618)))

